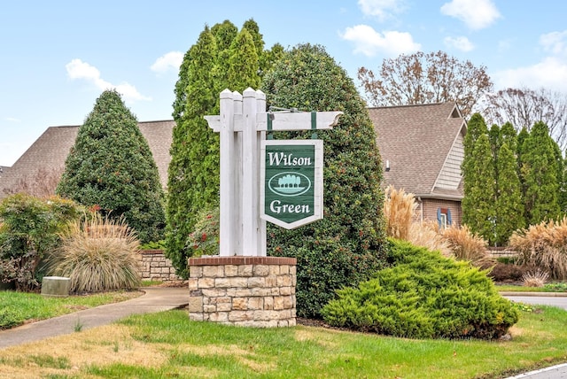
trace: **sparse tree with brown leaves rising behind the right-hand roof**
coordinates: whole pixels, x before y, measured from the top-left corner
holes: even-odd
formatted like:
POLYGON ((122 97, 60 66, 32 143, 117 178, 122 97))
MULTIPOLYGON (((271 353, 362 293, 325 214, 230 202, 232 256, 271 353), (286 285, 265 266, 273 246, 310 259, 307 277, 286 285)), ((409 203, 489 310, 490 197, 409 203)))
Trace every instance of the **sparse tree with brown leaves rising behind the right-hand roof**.
POLYGON ((462 62, 443 51, 384 59, 378 73, 359 68, 358 79, 373 106, 454 101, 465 118, 478 98, 493 88, 485 66, 462 62))

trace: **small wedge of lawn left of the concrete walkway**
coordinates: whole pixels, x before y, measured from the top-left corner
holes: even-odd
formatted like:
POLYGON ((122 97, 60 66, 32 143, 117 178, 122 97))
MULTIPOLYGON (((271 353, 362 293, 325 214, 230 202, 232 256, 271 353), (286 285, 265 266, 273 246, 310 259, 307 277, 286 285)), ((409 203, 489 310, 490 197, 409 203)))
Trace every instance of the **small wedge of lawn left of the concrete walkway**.
MULTIPOLYGON (((93 306, 102 306, 140 296, 140 291, 108 291, 87 296, 46 298, 37 293, 0 291, 0 329, 10 329, 93 306)), ((0 370, 1 372, 1 370, 0 370)))

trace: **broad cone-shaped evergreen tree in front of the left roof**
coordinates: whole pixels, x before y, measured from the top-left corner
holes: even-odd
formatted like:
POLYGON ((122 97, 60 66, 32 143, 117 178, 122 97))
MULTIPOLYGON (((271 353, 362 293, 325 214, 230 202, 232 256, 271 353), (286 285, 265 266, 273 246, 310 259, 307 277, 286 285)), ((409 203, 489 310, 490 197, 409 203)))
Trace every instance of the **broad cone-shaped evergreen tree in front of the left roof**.
POLYGON ((58 195, 121 215, 142 243, 163 238, 164 192, 136 117, 115 90, 106 90, 79 128, 58 195))

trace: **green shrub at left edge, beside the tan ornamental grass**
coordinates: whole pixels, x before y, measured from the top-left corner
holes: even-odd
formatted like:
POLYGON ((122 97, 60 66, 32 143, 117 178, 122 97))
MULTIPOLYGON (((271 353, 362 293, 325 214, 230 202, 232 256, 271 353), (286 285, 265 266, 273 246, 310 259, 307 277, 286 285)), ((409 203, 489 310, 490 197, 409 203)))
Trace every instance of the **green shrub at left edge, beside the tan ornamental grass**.
POLYGON ((17 290, 36 290, 37 270, 45 255, 57 249, 58 233, 82 214, 82 208, 61 197, 38 198, 23 193, 0 204, 0 282, 17 290))

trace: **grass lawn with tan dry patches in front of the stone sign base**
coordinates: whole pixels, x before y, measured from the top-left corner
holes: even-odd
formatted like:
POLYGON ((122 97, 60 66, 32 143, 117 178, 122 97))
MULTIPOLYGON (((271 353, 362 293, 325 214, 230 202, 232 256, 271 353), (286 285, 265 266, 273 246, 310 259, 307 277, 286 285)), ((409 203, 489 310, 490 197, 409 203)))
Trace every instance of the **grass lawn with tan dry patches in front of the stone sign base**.
POLYGON ((237 328, 183 310, 2 351, 12 378, 503 378, 565 361, 567 312, 523 307, 510 341, 415 340, 298 326, 237 328))

